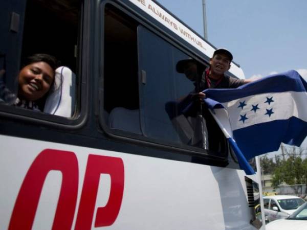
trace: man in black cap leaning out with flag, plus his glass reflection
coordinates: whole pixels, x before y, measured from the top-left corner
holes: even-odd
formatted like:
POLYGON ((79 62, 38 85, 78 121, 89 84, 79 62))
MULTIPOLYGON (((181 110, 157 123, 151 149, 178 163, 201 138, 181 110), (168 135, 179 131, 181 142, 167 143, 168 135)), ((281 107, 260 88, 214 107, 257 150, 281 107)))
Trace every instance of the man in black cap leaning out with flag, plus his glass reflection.
MULTIPOLYGON (((206 95, 201 92, 207 88, 237 88, 251 82, 252 80, 250 79, 237 79, 225 75, 225 72, 230 69, 232 59, 232 54, 228 50, 221 48, 214 51, 212 58, 210 58, 210 66, 206 68, 205 71, 199 70, 198 67, 200 66, 192 58, 179 61, 176 66, 177 72, 184 73, 195 85, 193 92, 181 100, 180 104, 185 104, 186 101, 190 101, 192 98, 196 99, 196 97, 199 97, 202 101, 206 95), (197 79, 198 76, 201 76, 201 78, 197 79)), ((200 114, 200 116, 205 119, 206 125, 204 125, 203 119, 199 119, 199 125, 196 124, 196 126, 207 126, 207 132, 210 133, 208 138, 209 149, 215 152, 224 152, 226 148, 225 143, 223 143, 224 134, 217 126, 206 106, 202 106, 202 104, 203 103, 194 103, 188 111, 189 114, 185 114, 185 116, 193 117, 194 113, 200 114), (200 110, 202 111, 201 113, 197 112, 200 110)), ((193 135, 195 135, 195 133, 193 135)), ((199 133, 198 135, 203 135, 203 133, 199 133)), ((202 145, 206 148, 204 137, 202 137, 202 140, 202 145)))

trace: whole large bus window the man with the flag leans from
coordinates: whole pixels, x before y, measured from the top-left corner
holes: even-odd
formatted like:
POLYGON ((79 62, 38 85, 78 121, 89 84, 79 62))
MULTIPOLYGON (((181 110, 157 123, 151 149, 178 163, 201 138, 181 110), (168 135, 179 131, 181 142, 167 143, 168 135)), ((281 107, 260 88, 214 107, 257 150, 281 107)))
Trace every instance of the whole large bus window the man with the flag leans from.
POLYGON ((105 7, 103 66, 103 117, 111 131, 226 156, 226 139, 213 135, 220 128, 209 112, 199 102, 186 110, 207 66, 113 6, 105 7), (208 121, 209 128, 216 124, 211 133, 208 121))

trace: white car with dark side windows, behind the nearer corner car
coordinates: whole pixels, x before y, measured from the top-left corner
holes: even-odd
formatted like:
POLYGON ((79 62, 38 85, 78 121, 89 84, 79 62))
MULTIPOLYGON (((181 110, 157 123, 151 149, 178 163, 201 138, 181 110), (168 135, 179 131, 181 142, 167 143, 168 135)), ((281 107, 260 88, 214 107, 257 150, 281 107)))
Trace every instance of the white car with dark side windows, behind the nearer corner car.
POLYGON ((297 196, 265 196, 264 208, 266 221, 271 222, 273 220, 287 218, 303 203, 305 201, 297 196))

